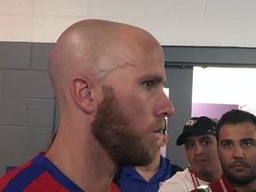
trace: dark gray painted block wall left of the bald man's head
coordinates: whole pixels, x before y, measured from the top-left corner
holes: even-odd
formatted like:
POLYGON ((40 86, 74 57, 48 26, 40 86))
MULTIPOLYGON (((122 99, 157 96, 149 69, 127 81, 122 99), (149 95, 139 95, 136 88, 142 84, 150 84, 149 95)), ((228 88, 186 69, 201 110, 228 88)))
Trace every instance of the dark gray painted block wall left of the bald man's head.
POLYGON ((52 140, 54 94, 47 72, 52 45, 0 42, 0 176, 52 140))

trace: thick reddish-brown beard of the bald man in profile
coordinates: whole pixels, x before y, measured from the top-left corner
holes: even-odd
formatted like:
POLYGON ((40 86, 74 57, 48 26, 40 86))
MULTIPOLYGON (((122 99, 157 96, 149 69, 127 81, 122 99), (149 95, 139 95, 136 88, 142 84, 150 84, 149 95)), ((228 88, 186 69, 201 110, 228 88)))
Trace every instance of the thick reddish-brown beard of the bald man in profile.
POLYGON ((129 116, 120 108, 112 86, 103 86, 103 100, 92 122, 92 134, 117 166, 150 164, 159 148, 143 143, 140 128, 132 126, 129 116))

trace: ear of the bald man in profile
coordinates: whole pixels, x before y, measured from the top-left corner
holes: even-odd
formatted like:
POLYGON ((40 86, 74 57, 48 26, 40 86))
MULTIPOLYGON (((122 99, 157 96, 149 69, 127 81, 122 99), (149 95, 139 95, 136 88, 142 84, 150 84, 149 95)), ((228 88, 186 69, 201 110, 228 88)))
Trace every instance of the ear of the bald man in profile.
POLYGON ((92 114, 95 110, 92 98, 92 84, 89 79, 76 78, 73 81, 73 96, 85 113, 92 114))

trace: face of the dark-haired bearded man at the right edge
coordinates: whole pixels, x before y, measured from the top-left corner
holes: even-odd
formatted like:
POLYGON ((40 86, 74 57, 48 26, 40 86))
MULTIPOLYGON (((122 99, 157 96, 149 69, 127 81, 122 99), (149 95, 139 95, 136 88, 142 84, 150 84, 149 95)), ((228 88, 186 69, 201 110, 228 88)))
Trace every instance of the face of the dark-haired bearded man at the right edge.
POLYGON ((246 185, 256 180, 255 124, 224 124, 218 152, 223 172, 233 184, 246 185))

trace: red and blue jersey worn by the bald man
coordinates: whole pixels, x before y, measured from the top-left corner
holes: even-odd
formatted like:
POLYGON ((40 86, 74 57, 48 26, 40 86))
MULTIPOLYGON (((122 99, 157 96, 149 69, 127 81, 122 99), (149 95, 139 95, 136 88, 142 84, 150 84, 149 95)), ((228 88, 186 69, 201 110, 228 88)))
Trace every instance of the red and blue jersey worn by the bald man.
MULTIPOLYGON (((110 191, 118 192, 119 188, 111 184, 110 191)), ((72 180, 60 172, 41 152, 27 164, 23 164, 0 179, 0 191, 3 192, 83 192, 72 180)))

